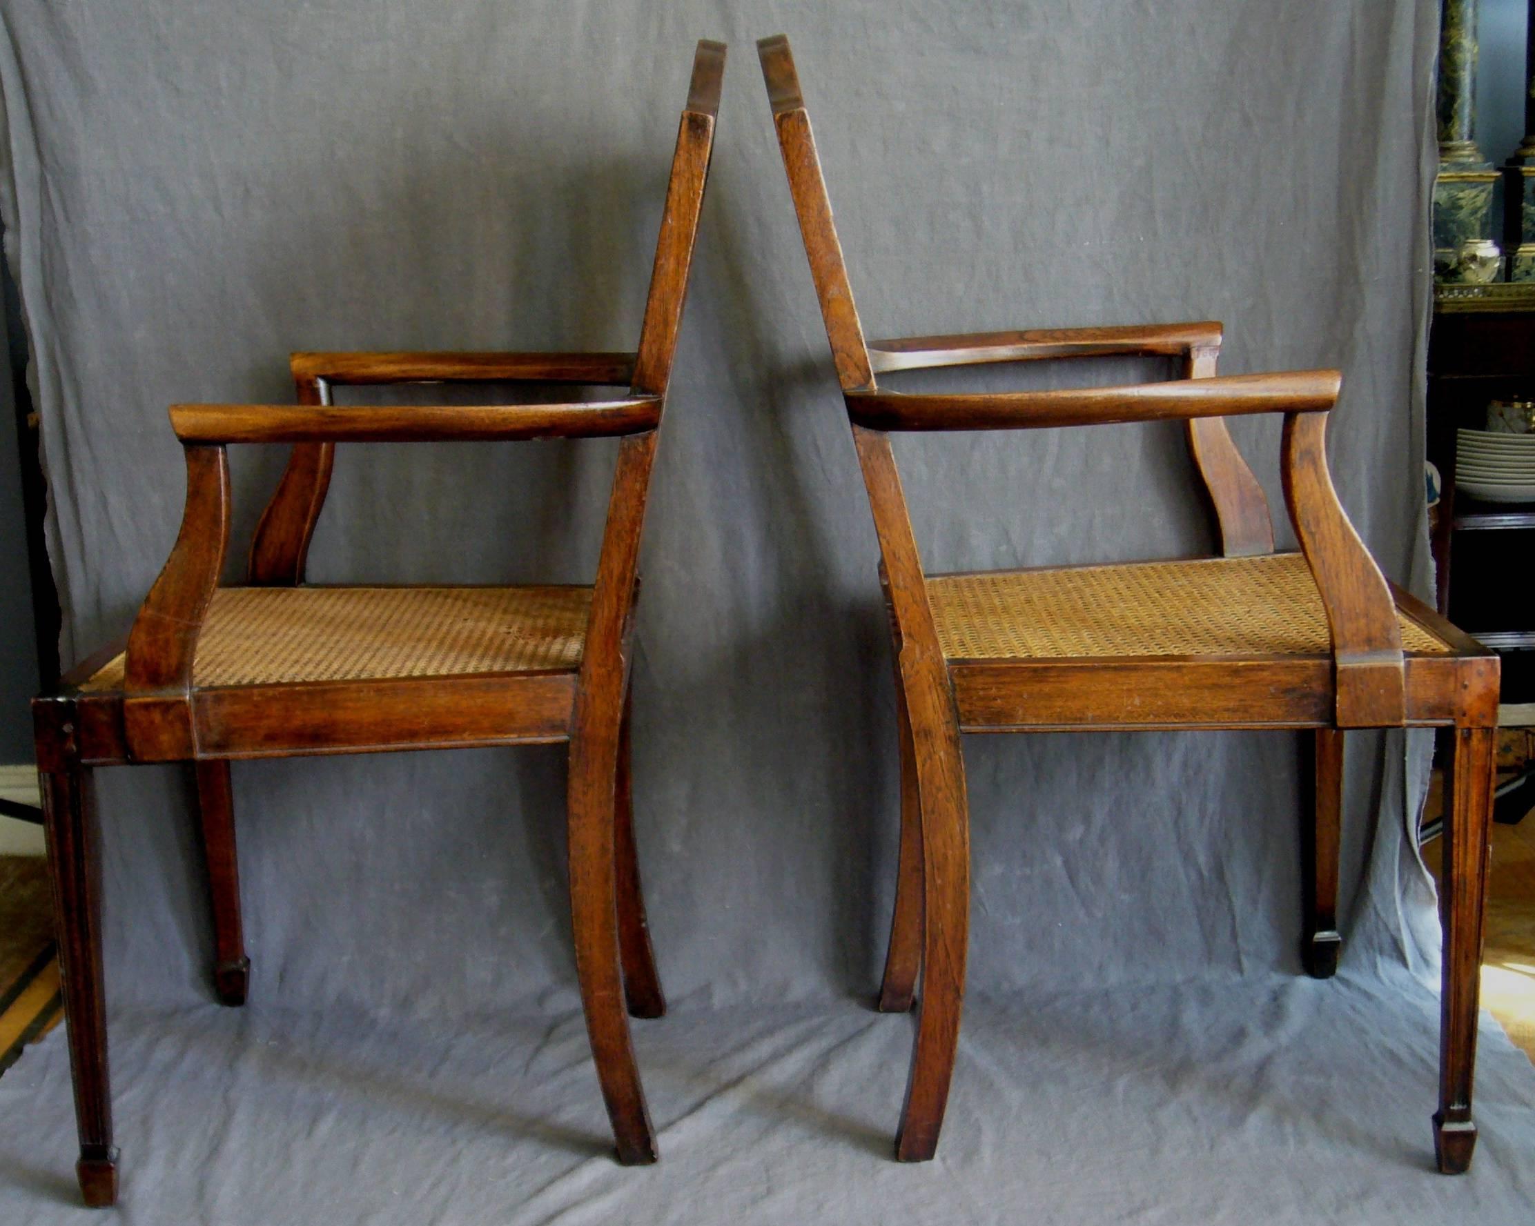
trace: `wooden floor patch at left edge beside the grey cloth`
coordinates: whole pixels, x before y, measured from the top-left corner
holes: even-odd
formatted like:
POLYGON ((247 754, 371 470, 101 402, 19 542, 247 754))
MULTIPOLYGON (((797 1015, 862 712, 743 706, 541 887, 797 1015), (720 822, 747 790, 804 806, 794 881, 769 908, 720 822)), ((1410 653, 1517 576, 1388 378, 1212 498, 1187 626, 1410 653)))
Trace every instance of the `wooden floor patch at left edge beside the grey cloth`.
POLYGON ((46 864, 0 856, 0 1073, 61 1016, 46 864))

